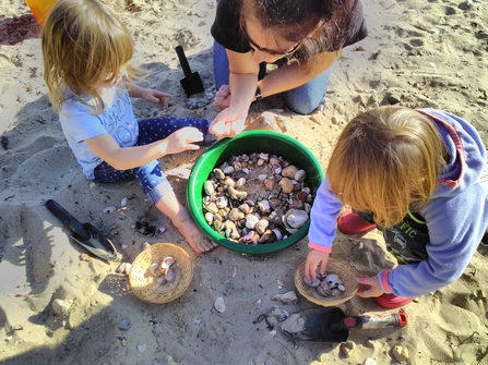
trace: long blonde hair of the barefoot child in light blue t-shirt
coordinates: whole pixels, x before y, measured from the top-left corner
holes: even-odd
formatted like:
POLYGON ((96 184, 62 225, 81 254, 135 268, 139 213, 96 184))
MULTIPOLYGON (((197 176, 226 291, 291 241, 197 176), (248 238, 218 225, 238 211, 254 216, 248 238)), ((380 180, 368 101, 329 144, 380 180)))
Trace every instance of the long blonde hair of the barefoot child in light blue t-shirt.
POLYGON ((126 25, 97 0, 59 0, 50 11, 41 34, 44 80, 55 110, 71 96, 81 102, 87 95, 90 108, 100 113, 104 101, 96 89, 104 72, 112 82, 124 66, 131 82, 138 70, 127 64, 133 41, 126 25))

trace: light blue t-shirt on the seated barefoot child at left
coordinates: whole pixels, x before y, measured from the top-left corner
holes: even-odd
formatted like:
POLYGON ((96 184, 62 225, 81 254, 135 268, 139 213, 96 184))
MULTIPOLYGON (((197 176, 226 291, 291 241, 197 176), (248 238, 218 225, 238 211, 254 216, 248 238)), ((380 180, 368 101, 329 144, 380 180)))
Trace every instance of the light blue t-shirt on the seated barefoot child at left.
POLYGON ((59 121, 68 144, 87 179, 94 179, 93 170, 103 162, 85 144, 85 139, 108 133, 120 147, 135 144, 139 124, 132 111, 129 93, 118 85, 114 100, 106 105, 99 115, 91 113, 90 108, 75 98, 63 102, 59 121))

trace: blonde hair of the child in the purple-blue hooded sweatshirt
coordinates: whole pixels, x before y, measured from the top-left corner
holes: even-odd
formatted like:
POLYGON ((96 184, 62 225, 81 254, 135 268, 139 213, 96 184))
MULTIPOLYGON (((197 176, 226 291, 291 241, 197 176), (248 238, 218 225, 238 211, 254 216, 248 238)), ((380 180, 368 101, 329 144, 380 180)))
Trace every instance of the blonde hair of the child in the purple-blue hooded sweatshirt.
POLYGON ((332 192, 381 227, 418 210, 432 195, 445 149, 433 123, 404 107, 380 107, 342 132, 326 175, 332 192))

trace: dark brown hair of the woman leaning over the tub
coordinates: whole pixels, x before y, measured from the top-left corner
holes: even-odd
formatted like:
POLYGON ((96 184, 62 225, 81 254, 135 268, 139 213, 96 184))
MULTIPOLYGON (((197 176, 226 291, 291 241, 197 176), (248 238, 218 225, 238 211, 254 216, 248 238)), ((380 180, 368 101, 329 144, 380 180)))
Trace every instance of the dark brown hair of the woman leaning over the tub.
POLYGON ((263 28, 286 40, 302 41, 294 54, 301 61, 324 50, 343 48, 356 3, 356 0, 243 0, 240 24, 245 27, 246 20, 254 17, 263 28))

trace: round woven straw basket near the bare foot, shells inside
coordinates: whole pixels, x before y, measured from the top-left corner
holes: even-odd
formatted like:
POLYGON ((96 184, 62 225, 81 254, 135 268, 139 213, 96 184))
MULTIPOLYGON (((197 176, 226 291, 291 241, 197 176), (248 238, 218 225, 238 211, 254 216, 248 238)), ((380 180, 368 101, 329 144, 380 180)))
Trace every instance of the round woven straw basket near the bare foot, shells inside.
POLYGON ((187 252, 171 243, 155 243, 135 257, 129 271, 129 283, 132 292, 141 300, 150 303, 168 303, 183 294, 193 279, 193 266, 187 252), (154 289, 153 276, 148 271, 152 264, 160 264, 165 256, 172 256, 177 265, 174 282, 154 289))

